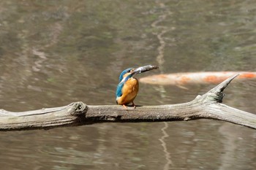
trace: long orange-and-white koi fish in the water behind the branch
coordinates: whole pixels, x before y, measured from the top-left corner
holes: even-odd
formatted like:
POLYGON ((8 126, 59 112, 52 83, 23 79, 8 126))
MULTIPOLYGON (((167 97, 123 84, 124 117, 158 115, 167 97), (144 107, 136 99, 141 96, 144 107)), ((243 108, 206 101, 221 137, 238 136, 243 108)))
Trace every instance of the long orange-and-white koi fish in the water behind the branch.
POLYGON ((236 80, 256 79, 256 72, 187 72, 157 74, 140 78, 140 82, 154 85, 218 84, 228 77, 239 74, 236 80))

